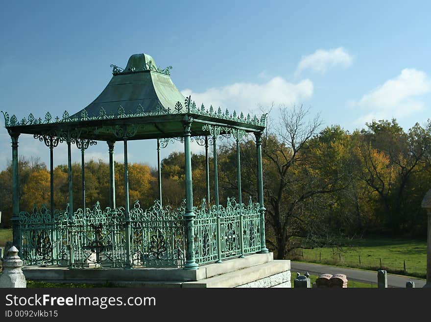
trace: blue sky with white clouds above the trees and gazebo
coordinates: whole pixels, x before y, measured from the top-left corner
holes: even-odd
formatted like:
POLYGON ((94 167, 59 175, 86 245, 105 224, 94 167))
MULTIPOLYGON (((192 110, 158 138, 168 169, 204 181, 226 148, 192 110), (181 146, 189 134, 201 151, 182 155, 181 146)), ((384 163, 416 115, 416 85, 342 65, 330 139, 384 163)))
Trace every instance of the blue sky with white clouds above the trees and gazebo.
MULTIPOLYGON (((392 117, 407 130, 431 116, 429 1, 2 1, 1 9, 0 109, 18 119, 82 109, 109 82, 110 64, 125 67, 141 52, 172 66, 173 82, 198 104, 244 112, 304 104, 325 126, 350 131, 392 117)), ((130 143, 129 161, 154 166, 155 145, 130 143)), ((4 128, 0 148, 1 170, 11 155, 4 128)), ((182 147, 162 157, 172 149, 182 147)), ((48 164, 31 136, 20 137, 19 152, 48 164)), ((87 157, 107 160, 106 144, 87 157)), ((65 145, 54 162, 67 162, 65 145)))

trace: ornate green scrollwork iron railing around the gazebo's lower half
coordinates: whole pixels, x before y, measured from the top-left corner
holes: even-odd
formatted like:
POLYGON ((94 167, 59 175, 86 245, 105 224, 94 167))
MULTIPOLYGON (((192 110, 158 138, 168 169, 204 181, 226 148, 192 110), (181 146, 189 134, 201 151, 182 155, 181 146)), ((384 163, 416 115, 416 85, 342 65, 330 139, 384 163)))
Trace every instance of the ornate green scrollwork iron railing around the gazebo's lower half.
MULTIPOLYGON (((194 253, 199 264, 257 252, 260 245, 260 205, 194 207, 194 253), (242 245, 241 245, 242 238, 242 245), (242 249, 241 249, 242 247, 242 249)), ((51 215, 46 205, 21 212, 19 233, 25 265, 71 268, 183 267, 186 253, 184 205, 142 209, 136 201, 129 215, 124 208, 68 209, 51 215), (129 242, 128 242, 129 241, 129 242)))

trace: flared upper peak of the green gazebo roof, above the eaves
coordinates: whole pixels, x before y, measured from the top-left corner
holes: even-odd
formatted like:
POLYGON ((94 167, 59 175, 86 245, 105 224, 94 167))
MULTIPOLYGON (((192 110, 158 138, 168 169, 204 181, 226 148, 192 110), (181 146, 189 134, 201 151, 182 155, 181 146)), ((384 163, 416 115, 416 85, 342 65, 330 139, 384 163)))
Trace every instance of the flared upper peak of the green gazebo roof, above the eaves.
MULTIPOLYGON (((130 56, 125 69, 113 67, 111 81, 100 95, 84 109, 89 116, 98 115, 103 107, 106 114, 117 113, 121 105, 125 113, 136 113, 138 107, 144 112, 155 112, 162 106, 173 109, 175 104, 184 102, 184 96, 170 79, 168 67, 157 68, 154 59, 147 54, 130 56), (161 105, 161 106, 160 106, 161 105)), ((80 117, 81 112, 71 117, 80 117)))

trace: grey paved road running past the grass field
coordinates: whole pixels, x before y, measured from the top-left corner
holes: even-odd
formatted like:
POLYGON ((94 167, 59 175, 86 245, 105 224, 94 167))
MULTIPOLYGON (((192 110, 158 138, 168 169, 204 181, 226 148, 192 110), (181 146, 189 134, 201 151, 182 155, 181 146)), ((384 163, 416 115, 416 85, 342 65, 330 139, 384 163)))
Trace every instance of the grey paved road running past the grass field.
MULTIPOLYGON (((347 279, 355 279, 359 282, 368 282, 377 284, 377 272, 374 271, 363 271, 363 270, 355 270, 348 269, 336 266, 328 266, 321 264, 311 264, 311 263, 303 263, 303 262, 291 262, 291 272, 300 272, 304 274, 305 272, 309 272, 311 275, 318 275, 321 273, 330 273, 330 274, 345 274, 347 279)), ((296 274, 292 274, 292 279, 296 277, 296 274)), ((415 287, 423 287, 425 285, 424 279, 416 279, 409 278, 408 276, 387 274, 387 286, 388 287, 406 287, 406 282, 412 281, 415 284, 415 287)))

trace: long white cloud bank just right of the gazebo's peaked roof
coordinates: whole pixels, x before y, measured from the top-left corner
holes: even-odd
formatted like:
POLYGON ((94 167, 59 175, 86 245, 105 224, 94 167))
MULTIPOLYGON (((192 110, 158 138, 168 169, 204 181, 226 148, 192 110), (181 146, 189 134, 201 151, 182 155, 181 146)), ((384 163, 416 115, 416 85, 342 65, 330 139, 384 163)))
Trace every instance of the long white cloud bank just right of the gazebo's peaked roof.
POLYGON ((196 104, 203 103, 209 108, 220 106, 224 111, 234 109, 243 112, 257 112, 259 106, 271 106, 274 104, 299 104, 310 99, 313 94, 313 83, 310 79, 304 79, 294 84, 283 77, 272 77, 266 83, 234 83, 222 87, 213 87, 202 93, 195 93, 191 89, 181 91, 184 96, 192 96, 196 104))

